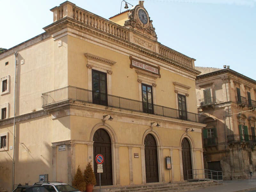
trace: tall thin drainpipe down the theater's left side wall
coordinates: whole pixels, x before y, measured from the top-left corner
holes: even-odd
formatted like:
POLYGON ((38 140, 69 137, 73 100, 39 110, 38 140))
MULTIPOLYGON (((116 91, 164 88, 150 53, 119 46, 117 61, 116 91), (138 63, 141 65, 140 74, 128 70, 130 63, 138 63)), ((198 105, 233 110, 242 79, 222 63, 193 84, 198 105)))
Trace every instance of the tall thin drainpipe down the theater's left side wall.
POLYGON ((13 157, 12 157, 12 190, 14 189, 14 168, 15 168, 15 116, 16 116, 16 76, 17 76, 17 55, 18 52, 14 53, 15 56, 15 75, 14 75, 14 98, 13 98, 13 157))

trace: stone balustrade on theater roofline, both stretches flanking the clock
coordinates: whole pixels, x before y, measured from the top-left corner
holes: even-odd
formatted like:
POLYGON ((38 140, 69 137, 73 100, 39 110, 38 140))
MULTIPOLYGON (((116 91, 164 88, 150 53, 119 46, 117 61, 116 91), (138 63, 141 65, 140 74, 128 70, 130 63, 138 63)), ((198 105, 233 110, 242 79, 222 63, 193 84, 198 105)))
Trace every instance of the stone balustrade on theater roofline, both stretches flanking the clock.
MULTIPOLYGON (((127 41, 132 41, 132 39, 129 38, 129 33, 131 32, 129 29, 124 28, 123 26, 120 26, 91 12, 88 12, 69 1, 60 4, 58 7, 56 6, 52 8, 51 11, 53 12, 53 22, 58 21, 64 17, 69 17, 84 23, 86 26, 91 26, 127 41)), ((189 58, 161 44, 158 45, 158 49, 160 55, 174 60, 179 64, 195 68, 195 59, 189 58)))

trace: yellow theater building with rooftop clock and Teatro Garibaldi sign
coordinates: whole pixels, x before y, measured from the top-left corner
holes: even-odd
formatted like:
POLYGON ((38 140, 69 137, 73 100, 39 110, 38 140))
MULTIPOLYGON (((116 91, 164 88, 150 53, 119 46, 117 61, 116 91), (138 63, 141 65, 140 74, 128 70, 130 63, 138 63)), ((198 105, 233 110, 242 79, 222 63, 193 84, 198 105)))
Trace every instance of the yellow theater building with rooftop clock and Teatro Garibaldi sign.
POLYGON ((42 175, 71 184, 78 165, 92 161, 97 172, 97 154, 103 186, 178 182, 204 169, 200 72, 157 41, 143 1, 109 19, 68 1, 51 11, 44 33, 0 54, 0 185, 42 175))

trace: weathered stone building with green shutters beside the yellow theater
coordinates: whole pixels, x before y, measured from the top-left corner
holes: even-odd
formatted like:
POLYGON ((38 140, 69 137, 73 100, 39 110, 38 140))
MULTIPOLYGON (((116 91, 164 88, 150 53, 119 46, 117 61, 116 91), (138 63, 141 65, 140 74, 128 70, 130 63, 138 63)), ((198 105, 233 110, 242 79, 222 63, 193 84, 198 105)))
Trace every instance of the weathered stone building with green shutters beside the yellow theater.
POLYGON ((198 112, 207 126, 202 131, 204 167, 223 171, 223 179, 250 178, 255 172, 256 81, 229 66, 196 67, 198 112))

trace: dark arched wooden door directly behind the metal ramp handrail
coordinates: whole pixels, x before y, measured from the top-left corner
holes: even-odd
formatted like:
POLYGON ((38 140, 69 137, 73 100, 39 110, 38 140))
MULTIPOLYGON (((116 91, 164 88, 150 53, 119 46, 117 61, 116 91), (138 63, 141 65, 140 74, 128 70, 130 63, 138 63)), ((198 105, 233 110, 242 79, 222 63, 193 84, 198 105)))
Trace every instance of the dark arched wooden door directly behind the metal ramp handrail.
POLYGON ((193 179, 192 175, 192 163, 191 163, 191 149, 187 138, 184 138, 181 142, 182 148, 182 165, 183 165, 183 179, 193 179))

